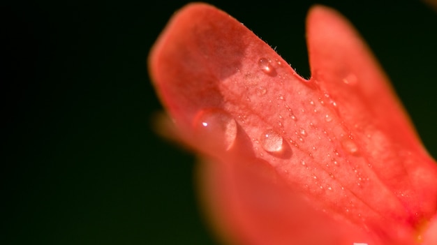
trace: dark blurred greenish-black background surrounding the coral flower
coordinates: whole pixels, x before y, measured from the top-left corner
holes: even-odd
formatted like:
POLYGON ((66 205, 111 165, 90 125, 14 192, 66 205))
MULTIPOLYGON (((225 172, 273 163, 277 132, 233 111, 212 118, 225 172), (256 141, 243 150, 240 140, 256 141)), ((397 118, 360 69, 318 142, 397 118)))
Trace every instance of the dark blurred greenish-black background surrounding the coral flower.
MULTIPOLYGON (((217 244, 198 208, 194 157, 151 129, 161 105, 147 55, 185 3, 0 3, 0 244, 217 244)), ((313 1, 210 3, 309 77, 313 1)), ((355 24, 437 156, 437 12, 413 0, 318 3, 355 24)))

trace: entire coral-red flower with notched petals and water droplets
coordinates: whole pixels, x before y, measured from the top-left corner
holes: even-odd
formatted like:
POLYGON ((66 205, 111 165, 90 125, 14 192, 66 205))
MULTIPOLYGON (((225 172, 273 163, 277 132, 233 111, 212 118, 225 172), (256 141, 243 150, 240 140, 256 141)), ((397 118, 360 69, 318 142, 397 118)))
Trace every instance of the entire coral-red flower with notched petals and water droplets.
POLYGON ((214 6, 191 3, 151 49, 171 134, 233 244, 437 244, 437 165, 355 29, 313 6, 311 78, 214 6))

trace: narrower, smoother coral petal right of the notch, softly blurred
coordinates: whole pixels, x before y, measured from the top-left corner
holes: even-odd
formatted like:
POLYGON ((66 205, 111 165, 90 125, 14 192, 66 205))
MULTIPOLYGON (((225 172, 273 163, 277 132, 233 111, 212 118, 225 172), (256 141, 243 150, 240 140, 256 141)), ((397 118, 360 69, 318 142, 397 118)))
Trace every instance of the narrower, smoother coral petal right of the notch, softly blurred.
POLYGON ((341 105, 336 112, 366 152, 363 168, 369 164, 417 225, 436 211, 436 164, 369 48, 339 16, 322 6, 309 13, 311 80, 341 105))

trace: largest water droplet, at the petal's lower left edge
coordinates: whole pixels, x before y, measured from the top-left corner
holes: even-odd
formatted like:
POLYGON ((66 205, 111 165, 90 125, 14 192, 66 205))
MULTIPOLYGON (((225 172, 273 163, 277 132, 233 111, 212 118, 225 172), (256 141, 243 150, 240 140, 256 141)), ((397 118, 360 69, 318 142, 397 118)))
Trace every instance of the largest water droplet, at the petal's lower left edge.
POLYGON ((202 143, 213 149, 228 150, 237 137, 237 122, 224 110, 201 110, 194 119, 195 134, 202 143))

